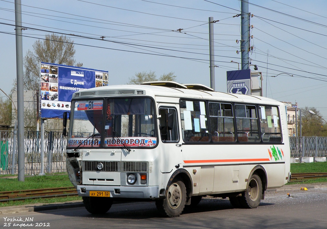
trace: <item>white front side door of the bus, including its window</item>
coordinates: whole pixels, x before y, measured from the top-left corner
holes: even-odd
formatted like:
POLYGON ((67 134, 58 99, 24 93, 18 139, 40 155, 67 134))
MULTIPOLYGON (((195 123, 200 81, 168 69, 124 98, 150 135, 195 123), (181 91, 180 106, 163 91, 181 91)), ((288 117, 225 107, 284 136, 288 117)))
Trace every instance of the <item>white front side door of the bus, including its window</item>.
POLYGON ((159 104, 160 167, 162 173, 169 173, 182 163, 177 107, 159 104))

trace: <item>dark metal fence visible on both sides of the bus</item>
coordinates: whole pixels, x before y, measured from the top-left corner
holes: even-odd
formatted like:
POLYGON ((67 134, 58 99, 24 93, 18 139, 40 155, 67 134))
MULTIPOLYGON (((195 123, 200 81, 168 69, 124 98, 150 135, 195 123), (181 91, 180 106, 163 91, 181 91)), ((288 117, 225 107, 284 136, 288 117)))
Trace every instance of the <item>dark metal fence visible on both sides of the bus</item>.
MULTIPOLYGON (((17 147, 13 131, 0 131, 0 140, 0 174, 11 174, 12 171, 17 174, 17 147)), ((44 172, 66 172, 65 148, 66 137, 61 132, 44 133, 44 172)), ((290 137, 290 149, 291 158, 327 157, 327 137, 290 137)), ((24 151, 25 175, 39 174, 42 171, 40 132, 25 132, 24 151)))

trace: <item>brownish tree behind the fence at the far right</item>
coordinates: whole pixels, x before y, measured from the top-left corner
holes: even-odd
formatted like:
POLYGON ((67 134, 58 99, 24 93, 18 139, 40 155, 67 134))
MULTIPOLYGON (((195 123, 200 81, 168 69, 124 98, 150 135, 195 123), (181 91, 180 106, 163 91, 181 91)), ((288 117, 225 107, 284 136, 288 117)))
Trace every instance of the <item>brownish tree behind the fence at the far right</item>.
POLYGON ((302 136, 327 136, 327 125, 322 118, 311 114, 309 110, 321 117, 320 112, 315 107, 305 107, 301 109, 302 136))

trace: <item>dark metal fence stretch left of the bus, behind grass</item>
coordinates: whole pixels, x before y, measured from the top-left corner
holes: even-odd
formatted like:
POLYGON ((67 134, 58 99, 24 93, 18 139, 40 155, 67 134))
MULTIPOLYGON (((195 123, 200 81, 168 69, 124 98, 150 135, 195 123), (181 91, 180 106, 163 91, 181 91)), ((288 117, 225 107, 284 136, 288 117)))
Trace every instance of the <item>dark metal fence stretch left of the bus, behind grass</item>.
MULTIPOLYGON (((13 131, 0 131, 0 174, 17 174, 17 143, 13 131), (16 146, 15 146, 16 145, 16 146)), ((41 132, 26 131, 24 136, 25 175, 66 172, 66 137, 62 132, 44 132, 43 163, 41 163, 41 132)))

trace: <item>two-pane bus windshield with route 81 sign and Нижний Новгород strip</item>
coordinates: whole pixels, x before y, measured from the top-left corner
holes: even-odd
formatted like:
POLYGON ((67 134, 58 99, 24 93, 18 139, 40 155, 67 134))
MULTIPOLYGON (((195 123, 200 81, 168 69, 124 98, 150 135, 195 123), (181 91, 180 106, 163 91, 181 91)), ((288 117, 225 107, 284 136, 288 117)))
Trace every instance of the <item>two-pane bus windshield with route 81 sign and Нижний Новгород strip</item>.
POLYGON ((157 142, 150 98, 79 100, 72 105, 69 147, 151 147, 157 142))

